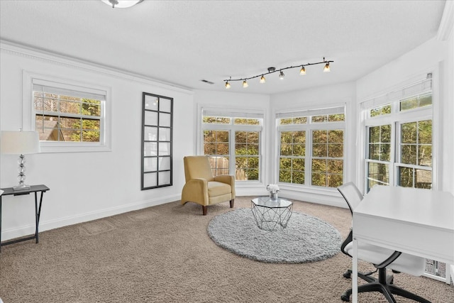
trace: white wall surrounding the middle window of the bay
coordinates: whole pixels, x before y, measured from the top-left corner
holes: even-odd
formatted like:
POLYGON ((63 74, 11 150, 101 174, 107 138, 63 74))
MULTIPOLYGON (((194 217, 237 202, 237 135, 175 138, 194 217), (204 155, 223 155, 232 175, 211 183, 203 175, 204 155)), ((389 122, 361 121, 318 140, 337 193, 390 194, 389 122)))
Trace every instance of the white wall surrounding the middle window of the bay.
MULTIPOLYGON (((345 151, 346 171, 345 182, 354 181, 356 171, 356 107, 355 107, 355 82, 333 85, 331 87, 315 87, 303 91, 274 94, 271 96, 272 115, 270 125, 274 126, 272 118, 277 111, 323 109, 331 106, 345 105, 345 151)), ((275 136, 275 128, 272 128, 275 136)), ((273 159, 277 158, 277 150, 272 147, 273 159)), ((273 174, 277 174, 277 165, 274 166, 273 174)), ((314 202, 326 205, 346 207, 345 200, 336 189, 313 189, 310 187, 282 186, 282 196, 290 199, 299 199, 306 202, 314 202)))

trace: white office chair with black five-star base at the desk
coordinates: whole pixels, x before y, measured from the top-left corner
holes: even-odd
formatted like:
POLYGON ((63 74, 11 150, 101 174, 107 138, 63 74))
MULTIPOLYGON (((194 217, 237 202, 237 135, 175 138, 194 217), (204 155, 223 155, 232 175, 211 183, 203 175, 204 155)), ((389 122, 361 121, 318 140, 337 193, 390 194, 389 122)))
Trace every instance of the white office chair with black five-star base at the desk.
MULTIPOLYGON (((353 182, 348 182, 340 187, 338 191, 341 192, 345 202, 347 202, 348 207, 353 216, 353 210, 362 200, 362 194, 358 187, 355 186, 353 182)), ((353 230, 350 230, 348 237, 345 238, 341 245, 341 251, 345 255, 353 255, 353 230)), ((392 294, 397 294, 402 297, 412 299, 416 302, 422 303, 431 303, 430 301, 419 297, 417 294, 413 294, 407 290, 403 290, 400 287, 397 287, 393 284, 394 277, 393 275, 387 276, 386 269, 389 268, 394 273, 405 272, 409 275, 420 276, 424 272, 426 260, 415 255, 409 255, 406 253, 401 253, 399 251, 393 251, 387 248, 382 248, 380 246, 374 246, 368 243, 358 243, 358 259, 364 260, 366 262, 372 263, 376 271, 378 271, 378 279, 372 277, 370 274, 372 272, 362 274, 358 272, 358 277, 365 280, 367 283, 364 285, 358 286, 358 293, 360 292, 381 292, 388 302, 396 302, 392 294)), ((344 277, 349 277, 351 271, 344 274, 344 277)), ((350 301, 350 295, 352 290, 347 290, 341 296, 343 301, 350 301)))

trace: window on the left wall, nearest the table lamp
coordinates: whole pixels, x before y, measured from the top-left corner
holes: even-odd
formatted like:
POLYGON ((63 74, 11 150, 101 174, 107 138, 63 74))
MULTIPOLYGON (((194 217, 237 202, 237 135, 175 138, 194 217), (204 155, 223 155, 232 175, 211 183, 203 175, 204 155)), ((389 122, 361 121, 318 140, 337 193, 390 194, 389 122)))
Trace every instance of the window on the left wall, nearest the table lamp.
POLYGON ((28 73, 26 82, 24 128, 38 131, 42 151, 109 150, 107 89, 28 73))

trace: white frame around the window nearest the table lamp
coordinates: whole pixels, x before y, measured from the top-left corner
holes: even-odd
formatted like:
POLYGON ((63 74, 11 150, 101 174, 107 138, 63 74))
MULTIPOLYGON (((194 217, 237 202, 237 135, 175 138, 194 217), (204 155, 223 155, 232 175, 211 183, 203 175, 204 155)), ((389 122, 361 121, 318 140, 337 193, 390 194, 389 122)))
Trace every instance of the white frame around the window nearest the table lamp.
POLYGON ((87 84, 72 79, 62 79, 36 72, 23 71, 23 118, 22 128, 35 131, 35 109, 33 106, 33 84, 49 83, 53 87, 76 92, 87 92, 105 96, 101 100, 100 141, 62 142, 40 141, 41 153, 97 152, 111 150, 111 89, 96 84, 87 84))

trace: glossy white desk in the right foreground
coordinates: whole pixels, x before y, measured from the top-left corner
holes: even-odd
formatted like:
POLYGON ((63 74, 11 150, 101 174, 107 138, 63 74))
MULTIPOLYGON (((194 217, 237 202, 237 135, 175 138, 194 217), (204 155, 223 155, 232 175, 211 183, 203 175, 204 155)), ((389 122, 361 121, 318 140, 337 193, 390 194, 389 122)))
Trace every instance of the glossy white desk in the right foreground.
POLYGON ((454 264, 454 196, 375 186, 353 211, 353 302, 358 302, 358 241, 454 264))

